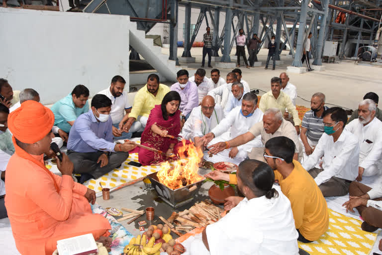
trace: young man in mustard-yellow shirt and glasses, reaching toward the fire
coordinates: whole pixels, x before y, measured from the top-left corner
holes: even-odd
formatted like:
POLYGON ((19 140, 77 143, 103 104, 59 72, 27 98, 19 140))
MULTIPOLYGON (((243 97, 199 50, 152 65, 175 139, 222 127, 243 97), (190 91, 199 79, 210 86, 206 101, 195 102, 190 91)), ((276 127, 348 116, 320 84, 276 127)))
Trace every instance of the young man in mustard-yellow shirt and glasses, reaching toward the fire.
MULTIPOLYGON (((275 170, 281 191, 289 199, 298 241, 310 243, 317 240, 329 227, 329 214, 326 200, 310 174, 301 164, 293 160, 294 142, 278 136, 265 144, 264 158, 275 170)), ((235 174, 212 171, 206 175, 214 180, 226 180, 237 184, 235 174)))

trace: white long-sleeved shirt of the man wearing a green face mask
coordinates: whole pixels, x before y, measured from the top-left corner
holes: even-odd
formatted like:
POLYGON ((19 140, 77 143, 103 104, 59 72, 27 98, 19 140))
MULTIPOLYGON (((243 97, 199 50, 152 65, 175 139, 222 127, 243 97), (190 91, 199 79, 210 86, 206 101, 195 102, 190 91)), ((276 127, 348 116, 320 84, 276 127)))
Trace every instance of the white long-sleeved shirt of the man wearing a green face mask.
POLYGON ((355 180, 358 176, 360 146, 357 137, 348 130, 344 129, 336 142, 333 136, 323 133, 313 153, 308 156, 302 167, 309 171, 323 155, 325 155, 322 163, 324 170, 314 178, 318 186, 333 176, 349 181, 355 180))

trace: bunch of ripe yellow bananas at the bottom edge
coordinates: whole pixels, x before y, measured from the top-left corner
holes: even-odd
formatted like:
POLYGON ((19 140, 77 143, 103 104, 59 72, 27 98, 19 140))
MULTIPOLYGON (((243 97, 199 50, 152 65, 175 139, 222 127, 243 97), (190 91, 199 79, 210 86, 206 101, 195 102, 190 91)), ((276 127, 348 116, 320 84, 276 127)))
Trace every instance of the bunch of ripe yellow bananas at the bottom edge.
POLYGON ((125 255, 159 255, 162 243, 154 245, 155 238, 152 237, 146 244, 146 238, 146 235, 132 238, 130 243, 123 249, 123 253, 125 255))

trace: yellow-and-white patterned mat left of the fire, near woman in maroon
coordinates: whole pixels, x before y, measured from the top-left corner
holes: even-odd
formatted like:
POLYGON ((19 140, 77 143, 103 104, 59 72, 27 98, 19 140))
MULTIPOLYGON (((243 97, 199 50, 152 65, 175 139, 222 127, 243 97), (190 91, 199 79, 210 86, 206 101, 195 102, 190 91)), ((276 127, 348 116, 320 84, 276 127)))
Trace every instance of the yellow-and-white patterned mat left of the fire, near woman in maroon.
POLYGON ((140 181, 146 175, 155 173, 159 170, 159 166, 141 166, 136 167, 128 165, 130 161, 138 162, 138 153, 131 153, 121 167, 114 169, 109 173, 99 177, 98 179, 90 179, 84 183, 85 186, 94 190, 97 197, 102 194, 99 183, 103 188, 110 188, 110 190, 116 190, 120 187, 128 186, 140 181))

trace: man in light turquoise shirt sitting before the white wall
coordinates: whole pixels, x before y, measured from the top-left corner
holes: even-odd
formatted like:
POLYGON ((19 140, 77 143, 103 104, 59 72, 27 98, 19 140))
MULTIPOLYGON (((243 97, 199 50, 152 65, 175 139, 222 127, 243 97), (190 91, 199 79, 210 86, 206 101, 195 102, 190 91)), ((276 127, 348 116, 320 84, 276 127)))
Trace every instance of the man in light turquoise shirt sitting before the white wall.
POLYGON ((54 126, 69 133, 77 117, 89 111, 89 89, 77 85, 71 94, 56 102, 50 110, 54 114, 54 126))

